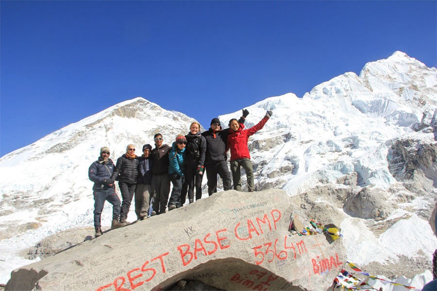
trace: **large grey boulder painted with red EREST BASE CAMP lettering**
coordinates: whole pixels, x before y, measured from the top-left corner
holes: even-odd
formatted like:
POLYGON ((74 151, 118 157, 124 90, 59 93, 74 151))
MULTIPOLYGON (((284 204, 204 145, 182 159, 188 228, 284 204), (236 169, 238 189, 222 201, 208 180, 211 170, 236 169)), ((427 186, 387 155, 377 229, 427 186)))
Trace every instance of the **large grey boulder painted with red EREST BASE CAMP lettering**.
POLYGON ((281 190, 216 193, 21 267, 6 290, 162 290, 185 280, 221 290, 327 290, 344 247, 291 235, 298 209, 281 190))

